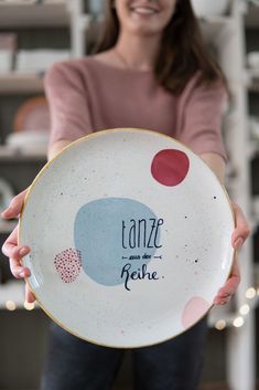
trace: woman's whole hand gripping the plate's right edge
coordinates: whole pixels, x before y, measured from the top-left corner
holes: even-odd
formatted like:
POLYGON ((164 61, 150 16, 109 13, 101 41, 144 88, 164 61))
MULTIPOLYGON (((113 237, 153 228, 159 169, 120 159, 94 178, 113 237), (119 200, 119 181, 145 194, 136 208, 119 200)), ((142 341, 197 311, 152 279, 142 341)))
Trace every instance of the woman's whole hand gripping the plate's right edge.
POLYGON ((250 229, 248 226, 247 220, 241 209, 239 208, 239 205, 233 202, 233 209, 234 209, 235 220, 236 220, 236 229, 234 230, 231 235, 231 244, 233 244, 233 247, 235 249, 234 263, 227 282, 218 291, 217 296, 214 298, 215 305, 227 304, 231 299, 231 296, 234 295, 234 293, 236 292, 237 286, 240 282, 238 251, 240 250, 244 242, 247 240, 247 238, 250 234, 250 229))

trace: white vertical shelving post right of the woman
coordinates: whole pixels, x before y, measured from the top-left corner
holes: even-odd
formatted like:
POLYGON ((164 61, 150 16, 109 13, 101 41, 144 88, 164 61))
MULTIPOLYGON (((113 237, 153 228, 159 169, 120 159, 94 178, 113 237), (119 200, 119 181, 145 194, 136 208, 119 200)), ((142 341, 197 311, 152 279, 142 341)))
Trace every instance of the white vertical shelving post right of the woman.
MULTIPOLYGON (((220 64, 227 75, 234 97, 230 113, 226 119, 227 145, 230 164, 236 172, 235 192, 231 197, 242 208, 251 221, 250 215, 250 167, 248 149, 250 141, 247 102, 247 83, 245 78, 245 9, 241 1, 233 1, 233 20, 235 34, 223 35, 220 49, 220 64), (247 146, 247 148, 246 148, 247 146)), ((240 254, 241 283, 236 294, 236 307, 246 303, 246 292, 253 285, 253 262, 251 242, 248 241, 240 254)), ((256 350, 255 350, 255 315, 251 310, 240 328, 229 328, 227 338, 227 376, 233 390, 252 390, 256 382, 256 350)))

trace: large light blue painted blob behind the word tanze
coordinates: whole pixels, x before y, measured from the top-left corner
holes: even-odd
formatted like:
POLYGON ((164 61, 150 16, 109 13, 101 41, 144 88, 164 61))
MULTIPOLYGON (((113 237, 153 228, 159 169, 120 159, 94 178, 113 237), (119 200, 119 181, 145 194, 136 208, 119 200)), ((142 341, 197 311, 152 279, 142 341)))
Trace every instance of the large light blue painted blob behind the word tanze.
POLYGON ((128 198, 105 198, 78 210, 74 240, 84 272, 99 284, 115 286, 125 282, 123 266, 128 264, 130 273, 138 272, 152 260, 160 246, 160 228, 145 204, 128 198))

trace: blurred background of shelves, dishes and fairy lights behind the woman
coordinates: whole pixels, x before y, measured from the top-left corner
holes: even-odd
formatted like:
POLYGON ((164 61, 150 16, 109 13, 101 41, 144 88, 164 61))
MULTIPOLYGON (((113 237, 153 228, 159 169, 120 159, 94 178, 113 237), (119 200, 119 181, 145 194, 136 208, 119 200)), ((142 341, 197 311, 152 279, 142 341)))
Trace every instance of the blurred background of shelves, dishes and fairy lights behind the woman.
MULTIPOLYGON (((180 0, 181 1, 181 0, 180 0)), ((192 0, 208 49, 229 83, 224 138, 227 190, 252 236, 240 253, 235 298, 209 315, 201 390, 259 389, 259 1, 192 0)), ((43 76, 56 61, 90 53, 104 0, 0 0, 0 210, 46 161, 50 114, 43 76)), ((0 221, 0 244, 17 221, 0 221)), ((0 254, 0 390, 39 389, 48 318, 24 304, 0 254)), ((131 389, 126 354, 116 389, 131 389)), ((162 390, 162 389, 161 389, 162 390)))

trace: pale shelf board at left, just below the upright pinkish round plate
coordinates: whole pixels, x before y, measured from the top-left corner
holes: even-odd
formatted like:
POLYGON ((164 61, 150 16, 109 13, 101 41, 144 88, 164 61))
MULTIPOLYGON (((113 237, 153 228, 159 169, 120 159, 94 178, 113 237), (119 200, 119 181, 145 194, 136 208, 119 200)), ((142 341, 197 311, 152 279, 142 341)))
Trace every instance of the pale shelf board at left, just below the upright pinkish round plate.
POLYGON ((8 146, 0 146, 0 161, 13 160, 32 160, 32 161, 41 161, 46 160, 46 152, 44 151, 35 151, 35 150, 21 150, 10 148, 8 146))

